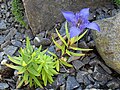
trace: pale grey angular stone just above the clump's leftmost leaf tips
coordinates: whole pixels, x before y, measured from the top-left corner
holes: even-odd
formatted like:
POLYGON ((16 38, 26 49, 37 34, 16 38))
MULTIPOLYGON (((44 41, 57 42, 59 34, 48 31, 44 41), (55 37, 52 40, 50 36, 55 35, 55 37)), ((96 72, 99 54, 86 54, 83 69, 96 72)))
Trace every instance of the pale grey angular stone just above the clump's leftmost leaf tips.
POLYGON ((10 56, 12 56, 17 51, 17 49, 18 47, 15 46, 6 46, 5 48, 3 48, 4 53, 10 56))

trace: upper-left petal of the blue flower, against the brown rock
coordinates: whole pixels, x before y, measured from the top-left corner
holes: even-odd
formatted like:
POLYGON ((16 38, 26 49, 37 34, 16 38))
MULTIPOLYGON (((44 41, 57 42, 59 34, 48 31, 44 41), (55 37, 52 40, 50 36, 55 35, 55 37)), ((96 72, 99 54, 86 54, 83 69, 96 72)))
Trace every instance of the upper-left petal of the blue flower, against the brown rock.
POLYGON ((62 12, 63 16, 65 17, 65 19, 68 21, 68 22, 74 22, 74 19, 75 19, 75 15, 73 12, 71 11, 64 11, 62 12))

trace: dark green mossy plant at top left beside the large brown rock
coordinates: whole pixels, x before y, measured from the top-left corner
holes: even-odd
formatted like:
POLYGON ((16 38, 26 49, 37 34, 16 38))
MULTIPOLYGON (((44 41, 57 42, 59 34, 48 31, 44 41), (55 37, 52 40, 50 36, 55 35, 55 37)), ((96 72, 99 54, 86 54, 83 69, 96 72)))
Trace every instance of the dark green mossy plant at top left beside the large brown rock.
POLYGON ((18 21, 22 26, 27 28, 26 22, 24 19, 23 14, 23 7, 22 7, 22 1, 21 0, 12 0, 12 14, 15 16, 16 21, 18 21))

